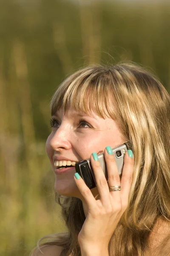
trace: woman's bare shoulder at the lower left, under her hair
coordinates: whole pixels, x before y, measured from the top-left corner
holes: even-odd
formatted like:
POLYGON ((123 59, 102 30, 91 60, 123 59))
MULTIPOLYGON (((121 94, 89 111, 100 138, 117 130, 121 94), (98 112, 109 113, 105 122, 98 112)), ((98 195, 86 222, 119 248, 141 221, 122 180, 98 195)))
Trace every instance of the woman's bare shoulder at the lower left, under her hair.
POLYGON ((40 250, 36 250, 33 256, 60 256, 60 253, 64 249, 64 247, 59 245, 48 245, 40 247, 40 250))

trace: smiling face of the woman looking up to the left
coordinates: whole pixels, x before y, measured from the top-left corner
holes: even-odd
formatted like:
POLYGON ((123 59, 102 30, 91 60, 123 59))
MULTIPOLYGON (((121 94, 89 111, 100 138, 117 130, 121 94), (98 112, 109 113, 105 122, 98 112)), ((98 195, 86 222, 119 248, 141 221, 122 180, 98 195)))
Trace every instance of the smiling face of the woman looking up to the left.
MULTIPOLYGON (((79 162, 90 158, 93 152, 102 153, 108 145, 114 147, 125 142, 113 119, 102 119, 95 113, 93 117, 79 114, 81 113, 68 108, 65 115, 60 109, 52 116, 54 127, 46 142, 46 152, 53 172, 56 169, 56 159, 79 162)), ((82 199, 74 181, 75 172, 75 168, 60 174, 54 172, 54 188, 60 195, 82 199)), ((91 189, 91 192, 93 195, 97 194, 97 188, 91 189)))

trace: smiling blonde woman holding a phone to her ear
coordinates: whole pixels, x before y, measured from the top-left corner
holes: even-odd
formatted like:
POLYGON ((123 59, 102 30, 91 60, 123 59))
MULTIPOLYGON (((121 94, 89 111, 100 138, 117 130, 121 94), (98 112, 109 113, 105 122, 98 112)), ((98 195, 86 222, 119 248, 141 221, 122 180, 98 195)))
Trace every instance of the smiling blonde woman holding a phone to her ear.
POLYGON ((155 76, 135 64, 69 76, 51 100, 46 152, 68 232, 43 237, 31 255, 170 255, 170 96, 155 76), (120 179, 111 148, 126 141, 120 179), (97 158, 103 151, 108 182, 97 158), (88 158, 93 189, 75 175, 75 162, 88 158))

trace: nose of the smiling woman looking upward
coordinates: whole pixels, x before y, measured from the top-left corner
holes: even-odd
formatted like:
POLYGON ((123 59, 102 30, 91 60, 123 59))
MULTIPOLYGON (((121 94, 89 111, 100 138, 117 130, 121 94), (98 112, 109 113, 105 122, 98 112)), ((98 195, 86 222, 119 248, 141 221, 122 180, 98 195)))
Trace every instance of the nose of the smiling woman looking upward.
POLYGON ((63 129, 61 126, 57 129, 54 136, 50 140, 50 146, 55 151, 63 151, 71 148, 71 134, 68 129, 63 129))

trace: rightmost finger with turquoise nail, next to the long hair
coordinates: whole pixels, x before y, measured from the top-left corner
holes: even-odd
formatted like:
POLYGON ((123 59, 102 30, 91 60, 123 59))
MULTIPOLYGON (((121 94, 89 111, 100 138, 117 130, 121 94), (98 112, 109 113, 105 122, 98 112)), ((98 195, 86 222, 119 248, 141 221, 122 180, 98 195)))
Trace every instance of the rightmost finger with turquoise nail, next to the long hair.
POLYGON ((132 151, 128 150, 124 157, 124 166, 123 166, 122 177, 120 182, 122 207, 124 207, 125 209, 127 208, 127 205, 128 205, 128 197, 129 197, 130 186, 131 186, 132 177, 133 177, 133 166, 134 166, 134 156, 132 151))

